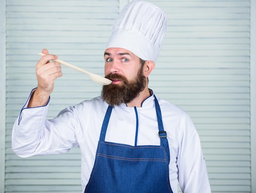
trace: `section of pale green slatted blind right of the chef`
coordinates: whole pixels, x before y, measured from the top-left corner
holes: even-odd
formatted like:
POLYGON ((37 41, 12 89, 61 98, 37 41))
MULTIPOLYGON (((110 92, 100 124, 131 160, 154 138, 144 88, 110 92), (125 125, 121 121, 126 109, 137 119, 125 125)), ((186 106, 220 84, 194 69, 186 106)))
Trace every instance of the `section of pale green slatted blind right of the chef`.
POLYGON ((168 15, 150 88, 191 116, 212 192, 251 192, 250 1, 150 2, 168 15))

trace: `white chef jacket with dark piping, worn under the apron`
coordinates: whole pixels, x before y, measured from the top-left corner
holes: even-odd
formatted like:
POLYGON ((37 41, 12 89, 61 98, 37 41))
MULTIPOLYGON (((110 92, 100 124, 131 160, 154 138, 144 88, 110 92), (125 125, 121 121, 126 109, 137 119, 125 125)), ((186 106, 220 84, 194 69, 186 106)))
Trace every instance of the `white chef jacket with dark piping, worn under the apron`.
MULTIPOLYGON (((34 90, 31 92, 33 93, 34 90)), ((46 106, 23 106, 12 131, 12 149, 20 157, 66 153, 74 146, 81 149, 81 183, 83 191, 94 166, 97 145, 108 104, 101 97, 69 106, 58 116, 46 120, 46 106)), ((170 149, 169 178, 173 193, 177 185, 184 193, 210 193, 206 163, 200 139, 191 118, 179 107, 157 98, 170 149)), ((160 145, 154 97, 141 107, 126 104, 112 109, 105 141, 137 146, 160 145)))

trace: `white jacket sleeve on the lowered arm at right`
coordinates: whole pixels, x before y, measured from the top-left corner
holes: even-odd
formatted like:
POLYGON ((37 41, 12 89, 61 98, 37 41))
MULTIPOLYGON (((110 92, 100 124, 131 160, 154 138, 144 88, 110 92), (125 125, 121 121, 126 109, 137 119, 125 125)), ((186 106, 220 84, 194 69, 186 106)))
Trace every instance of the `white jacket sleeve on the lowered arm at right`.
POLYGON ((177 156, 180 188, 183 193, 211 193, 206 162, 195 126, 186 113, 180 124, 177 156))

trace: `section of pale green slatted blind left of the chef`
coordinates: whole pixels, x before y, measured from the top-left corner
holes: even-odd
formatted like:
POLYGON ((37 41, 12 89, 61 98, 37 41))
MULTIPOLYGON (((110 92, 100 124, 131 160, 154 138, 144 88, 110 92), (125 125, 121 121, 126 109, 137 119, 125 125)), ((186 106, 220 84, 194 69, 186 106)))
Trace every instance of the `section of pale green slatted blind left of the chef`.
MULTIPOLYGON (((7 0, 6 193, 82 191, 79 148, 63 155, 19 158, 11 150, 11 129, 37 86, 35 66, 42 49, 104 75, 103 53, 118 12, 118 0, 7 0)), ((101 91, 88 75, 64 66, 62 70, 47 118, 101 91)))

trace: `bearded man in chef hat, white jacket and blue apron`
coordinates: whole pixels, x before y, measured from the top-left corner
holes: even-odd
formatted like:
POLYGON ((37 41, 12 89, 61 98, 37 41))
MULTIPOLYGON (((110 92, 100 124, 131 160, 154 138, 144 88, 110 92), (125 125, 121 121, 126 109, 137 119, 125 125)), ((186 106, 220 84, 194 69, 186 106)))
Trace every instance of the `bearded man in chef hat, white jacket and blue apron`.
POLYGON ((104 53, 112 83, 101 96, 69 106, 46 120, 54 80, 62 75, 46 49, 32 90, 13 126, 20 157, 81 149, 84 193, 210 193, 200 139, 189 116, 157 98, 148 76, 166 34, 167 16, 145 1, 132 1, 114 24, 104 53))

